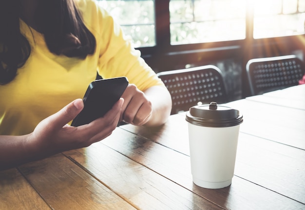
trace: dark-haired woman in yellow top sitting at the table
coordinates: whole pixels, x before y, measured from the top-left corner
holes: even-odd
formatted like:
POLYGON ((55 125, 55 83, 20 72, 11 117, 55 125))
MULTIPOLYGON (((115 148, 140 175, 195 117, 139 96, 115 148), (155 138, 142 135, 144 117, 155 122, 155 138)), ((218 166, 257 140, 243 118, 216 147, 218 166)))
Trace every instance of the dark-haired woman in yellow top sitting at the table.
POLYGON ((172 107, 164 84, 94 0, 0 1, 0 84, 0 169, 89 146, 119 121, 161 125, 172 107), (96 72, 130 85, 104 117, 68 125, 96 72))

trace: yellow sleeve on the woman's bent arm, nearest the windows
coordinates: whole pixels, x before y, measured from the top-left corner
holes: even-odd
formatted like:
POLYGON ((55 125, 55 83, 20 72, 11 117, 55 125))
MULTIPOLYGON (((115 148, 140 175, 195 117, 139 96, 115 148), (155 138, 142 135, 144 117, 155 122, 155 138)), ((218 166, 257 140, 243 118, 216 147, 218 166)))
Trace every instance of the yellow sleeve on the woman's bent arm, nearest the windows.
POLYGON ((103 78, 126 76, 131 84, 144 91, 152 86, 164 86, 155 72, 140 57, 129 40, 124 37, 121 27, 102 8, 96 5, 94 18, 98 73, 103 78))

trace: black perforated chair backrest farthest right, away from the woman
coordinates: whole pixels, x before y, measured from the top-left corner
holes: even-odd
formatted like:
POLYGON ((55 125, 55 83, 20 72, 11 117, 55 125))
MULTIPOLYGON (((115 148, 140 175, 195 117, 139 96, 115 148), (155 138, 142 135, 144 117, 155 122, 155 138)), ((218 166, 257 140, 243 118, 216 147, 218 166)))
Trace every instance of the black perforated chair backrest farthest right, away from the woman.
POLYGON ((246 70, 252 95, 298 85, 305 72, 304 63, 295 55, 255 58, 246 70))

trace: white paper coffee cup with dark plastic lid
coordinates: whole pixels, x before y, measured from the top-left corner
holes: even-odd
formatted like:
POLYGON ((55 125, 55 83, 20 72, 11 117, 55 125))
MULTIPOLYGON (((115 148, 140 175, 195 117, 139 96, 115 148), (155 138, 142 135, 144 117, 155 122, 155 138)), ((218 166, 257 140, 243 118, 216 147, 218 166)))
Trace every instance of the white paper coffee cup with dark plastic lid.
POLYGON ((186 120, 193 182, 209 189, 229 186, 234 175, 242 115, 238 110, 217 104, 216 109, 201 105, 191 107, 186 120))

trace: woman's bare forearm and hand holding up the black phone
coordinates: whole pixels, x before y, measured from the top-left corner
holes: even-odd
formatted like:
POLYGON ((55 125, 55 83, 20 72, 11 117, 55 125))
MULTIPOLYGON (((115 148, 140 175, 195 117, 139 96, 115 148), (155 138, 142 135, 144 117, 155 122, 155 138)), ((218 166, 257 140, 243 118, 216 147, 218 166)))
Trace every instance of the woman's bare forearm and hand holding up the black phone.
POLYGON ((83 109, 76 99, 57 113, 42 120, 24 136, 0 136, 0 170, 42 159, 60 152, 87 147, 108 137, 116 128, 124 99, 119 99, 104 117, 78 127, 70 126, 83 109))

